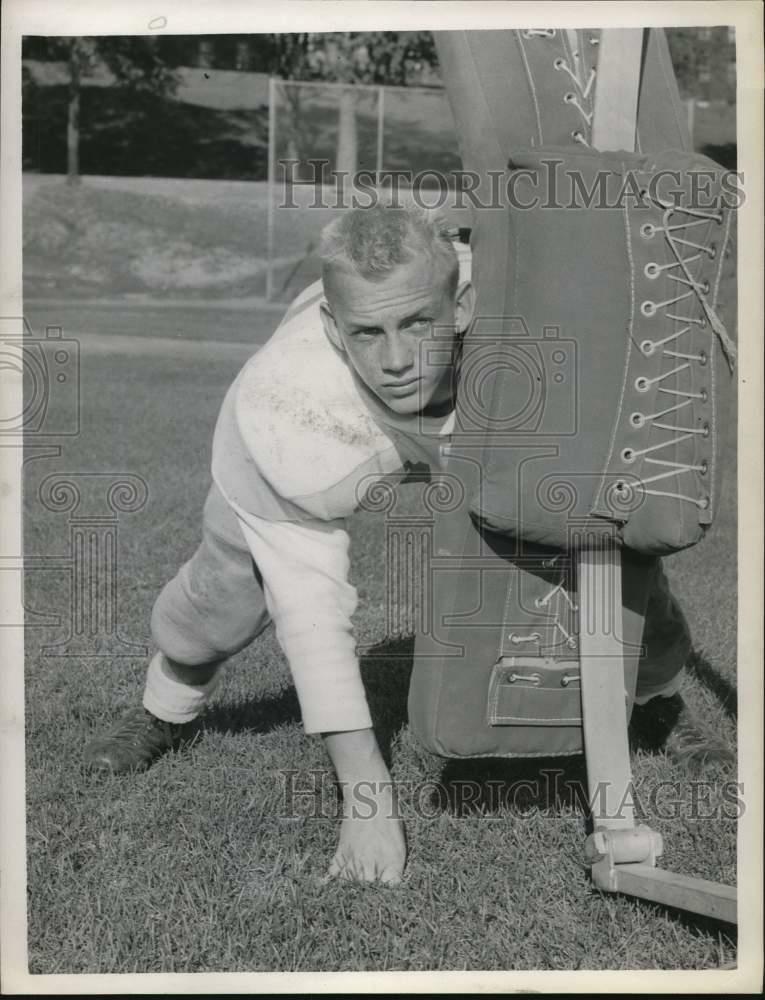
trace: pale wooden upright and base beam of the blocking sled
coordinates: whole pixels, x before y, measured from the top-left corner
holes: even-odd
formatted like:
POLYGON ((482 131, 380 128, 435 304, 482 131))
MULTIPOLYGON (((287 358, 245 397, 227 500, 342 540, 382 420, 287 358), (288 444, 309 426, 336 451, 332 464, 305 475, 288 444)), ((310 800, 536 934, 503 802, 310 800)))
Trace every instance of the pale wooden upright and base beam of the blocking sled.
MULTIPOLYGON (((602 33, 593 145, 634 149, 641 29, 602 33)), ((593 832, 585 844, 598 889, 621 892, 728 923, 737 922, 736 890, 656 867, 662 838, 636 825, 627 739, 624 661, 615 628, 621 609, 621 553, 616 544, 576 545, 582 725, 593 832)))

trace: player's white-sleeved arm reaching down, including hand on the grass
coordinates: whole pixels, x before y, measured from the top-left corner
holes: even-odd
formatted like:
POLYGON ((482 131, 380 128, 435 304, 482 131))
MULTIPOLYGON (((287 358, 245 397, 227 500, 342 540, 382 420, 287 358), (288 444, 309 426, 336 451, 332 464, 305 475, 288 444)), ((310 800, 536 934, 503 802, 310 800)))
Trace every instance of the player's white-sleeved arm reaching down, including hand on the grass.
POLYGON ((403 829, 356 656, 348 533, 342 521, 237 514, 263 578, 305 730, 323 735, 343 789, 345 818, 329 874, 397 882, 406 856, 403 829))

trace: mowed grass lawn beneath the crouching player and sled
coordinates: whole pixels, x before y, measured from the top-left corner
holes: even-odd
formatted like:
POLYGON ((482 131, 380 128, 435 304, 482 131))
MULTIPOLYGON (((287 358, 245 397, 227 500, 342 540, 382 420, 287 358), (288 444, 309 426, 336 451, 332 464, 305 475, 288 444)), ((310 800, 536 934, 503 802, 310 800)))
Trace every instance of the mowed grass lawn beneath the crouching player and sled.
MULTIPOLYGON (((69 515, 38 498, 46 476, 142 477, 145 507, 119 520, 117 620, 123 639, 149 647, 152 603, 199 540, 212 428, 247 347, 190 333, 193 345, 163 340, 147 350, 151 342, 110 341, 109 332, 82 338, 81 435, 61 457, 28 462, 27 555, 69 550, 69 515)), ((696 644, 684 693, 731 745, 734 447, 732 431, 728 502, 713 533, 667 563, 696 644)), ((419 489, 402 488, 406 509, 416 509, 419 489)), ((146 773, 84 773, 87 740, 139 703, 146 661, 42 655, 44 643, 64 637, 70 599, 65 570, 43 568, 27 576, 27 608, 65 624, 30 628, 27 638, 30 971, 711 969, 735 961, 727 925, 593 890, 585 813, 566 794, 567 782, 583 780, 580 759, 455 764, 417 745, 406 721, 412 641, 385 628, 385 526, 365 513, 350 530, 357 635, 372 647, 364 678, 407 823, 404 884, 320 883, 339 823, 329 761, 320 739, 302 732, 270 629, 228 666, 193 745, 146 773), (466 802, 465 789, 476 787, 480 801, 466 802)), ((664 865, 735 882, 735 809, 726 798, 735 773, 688 770, 661 748, 638 749, 633 764, 644 818, 665 837, 664 865), (696 817, 692 779, 710 788, 696 817)))

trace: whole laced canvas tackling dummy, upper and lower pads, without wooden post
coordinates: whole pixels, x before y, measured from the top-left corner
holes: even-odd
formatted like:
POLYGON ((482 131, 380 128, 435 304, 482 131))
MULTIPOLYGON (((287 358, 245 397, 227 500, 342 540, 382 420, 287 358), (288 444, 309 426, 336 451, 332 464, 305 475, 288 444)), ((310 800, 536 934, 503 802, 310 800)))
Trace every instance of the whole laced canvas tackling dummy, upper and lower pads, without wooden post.
POLYGON ((719 503, 735 199, 688 150, 660 31, 636 99, 644 151, 590 146, 593 41, 437 38, 464 165, 502 171, 500 202, 475 211, 455 501, 436 517, 409 695, 414 731, 443 756, 582 752, 577 548, 620 550, 607 628, 628 714, 689 652, 657 557, 699 541, 719 503))

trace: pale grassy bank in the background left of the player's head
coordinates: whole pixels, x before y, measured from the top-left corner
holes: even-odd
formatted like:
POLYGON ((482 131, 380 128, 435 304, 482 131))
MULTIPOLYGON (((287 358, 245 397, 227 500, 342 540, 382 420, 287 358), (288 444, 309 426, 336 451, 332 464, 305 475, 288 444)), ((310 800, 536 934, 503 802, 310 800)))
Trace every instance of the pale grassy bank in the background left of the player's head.
MULTIPOLYGON (((319 277, 316 245, 338 213, 338 195, 302 185, 288 194, 276 186, 270 196, 273 298, 286 304, 319 277)), ((422 201, 438 197, 425 192, 422 201)), ((450 208, 454 197, 444 194, 444 213, 469 225, 469 202, 450 208)), ((26 174, 25 295, 126 303, 262 298, 268 199, 260 181, 86 177, 73 188, 57 175, 26 174)))

